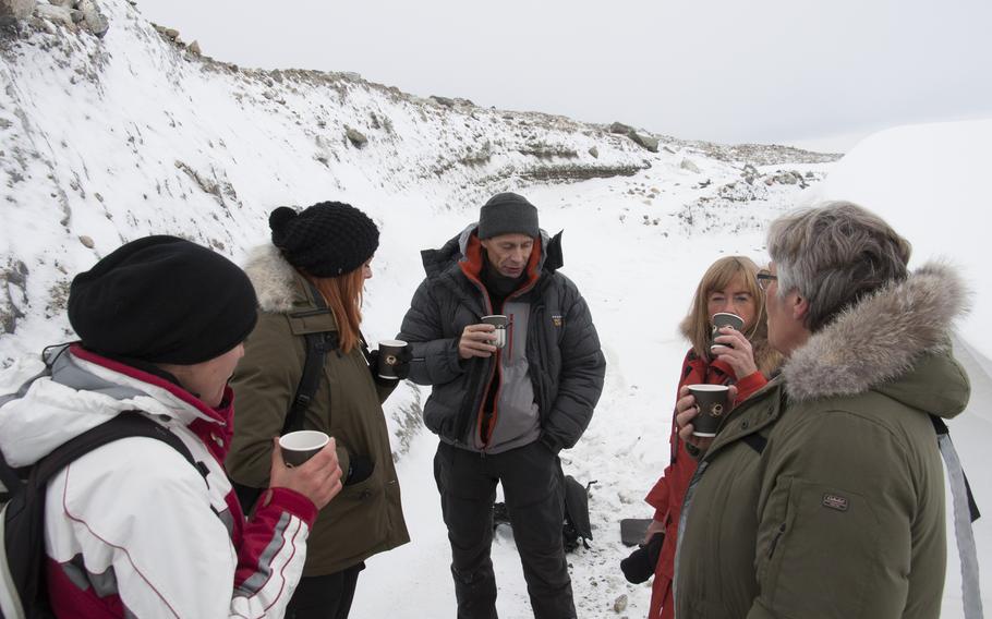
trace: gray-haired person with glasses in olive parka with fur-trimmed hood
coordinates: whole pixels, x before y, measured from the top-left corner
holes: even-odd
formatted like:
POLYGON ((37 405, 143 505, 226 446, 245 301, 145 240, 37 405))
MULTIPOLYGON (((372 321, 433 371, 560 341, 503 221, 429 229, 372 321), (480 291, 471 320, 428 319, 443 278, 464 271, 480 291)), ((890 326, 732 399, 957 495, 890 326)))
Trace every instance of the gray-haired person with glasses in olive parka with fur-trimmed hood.
POLYGON ((939 617, 946 547, 934 428, 968 403, 949 331, 968 292, 949 266, 850 203, 769 231, 769 342, 782 373, 699 450, 675 569, 676 616, 939 617))

